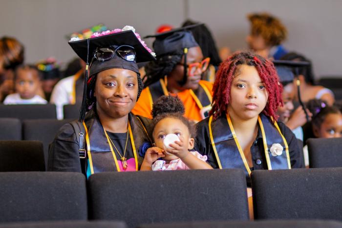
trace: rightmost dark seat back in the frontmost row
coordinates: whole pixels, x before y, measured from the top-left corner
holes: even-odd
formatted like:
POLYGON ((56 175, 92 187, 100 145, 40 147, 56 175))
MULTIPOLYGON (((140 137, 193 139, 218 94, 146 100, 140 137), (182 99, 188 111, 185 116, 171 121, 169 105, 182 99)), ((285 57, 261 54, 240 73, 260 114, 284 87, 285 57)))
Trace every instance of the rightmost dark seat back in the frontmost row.
POLYGON ((342 220, 342 168, 252 171, 255 219, 342 220))

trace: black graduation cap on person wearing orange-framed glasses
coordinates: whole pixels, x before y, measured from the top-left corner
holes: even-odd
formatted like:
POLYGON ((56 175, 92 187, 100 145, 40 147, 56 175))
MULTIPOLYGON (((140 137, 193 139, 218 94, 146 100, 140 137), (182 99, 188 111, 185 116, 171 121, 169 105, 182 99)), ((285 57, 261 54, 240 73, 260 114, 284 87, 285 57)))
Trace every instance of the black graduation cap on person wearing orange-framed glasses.
POLYGON ((201 23, 172 29, 156 35, 146 36, 145 38, 155 38, 153 49, 157 56, 162 56, 176 51, 183 51, 184 48, 199 46, 193 38, 191 31, 189 31, 189 29, 198 25, 201 25, 201 23))

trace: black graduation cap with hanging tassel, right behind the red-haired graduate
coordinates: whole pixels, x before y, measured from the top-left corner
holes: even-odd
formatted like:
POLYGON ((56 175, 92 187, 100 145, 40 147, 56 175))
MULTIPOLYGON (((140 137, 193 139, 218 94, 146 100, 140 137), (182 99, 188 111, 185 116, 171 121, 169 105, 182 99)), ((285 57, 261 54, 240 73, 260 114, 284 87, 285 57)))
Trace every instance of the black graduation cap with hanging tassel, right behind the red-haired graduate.
POLYGON ((305 112, 306 120, 309 122, 310 121, 309 115, 306 111, 306 107, 305 107, 304 103, 301 101, 301 98, 300 98, 300 89, 299 89, 300 81, 298 79, 298 76, 299 76, 299 68, 307 67, 311 63, 310 62, 304 62, 304 61, 299 62, 299 61, 288 61, 288 60, 274 60, 273 64, 275 65, 275 67, 277 69, 278 76, 279 76, 280 82, 282 84, 283 84, 283 82, 287 82, 286 80, 290 79, 291 76, 290 76, 289 70, 292 72, 293 78, 296 79, 299 104, 302 106, 302 108, 305 112))

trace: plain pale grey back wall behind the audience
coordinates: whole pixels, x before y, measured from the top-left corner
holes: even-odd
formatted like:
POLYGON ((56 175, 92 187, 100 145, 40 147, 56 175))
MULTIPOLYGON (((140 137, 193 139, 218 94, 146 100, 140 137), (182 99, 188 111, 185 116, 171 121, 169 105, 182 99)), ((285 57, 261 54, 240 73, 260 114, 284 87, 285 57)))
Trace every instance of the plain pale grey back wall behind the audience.
POLYGON ((268 11, 288 28, 285 46, 312 59, 317 76, 342 75, 342 0, 0 0, 0 6, 0 36, 18 38, 26 62, 49 56, 67 62, 75 55, 65 35, 100 22, 133 25, 145 36, 162 23, 180 25, 186 15, 205 22, 219 47, 237 50, 247 47, 246 14, 268 11))

